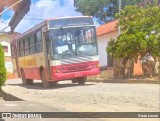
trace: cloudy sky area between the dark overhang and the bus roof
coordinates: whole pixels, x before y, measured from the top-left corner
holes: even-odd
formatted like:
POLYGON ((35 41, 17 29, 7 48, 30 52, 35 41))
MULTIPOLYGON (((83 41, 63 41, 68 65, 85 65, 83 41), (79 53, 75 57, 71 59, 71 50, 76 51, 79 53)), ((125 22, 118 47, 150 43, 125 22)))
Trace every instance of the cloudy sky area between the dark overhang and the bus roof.
POLYGON ((39 2, 31 5, 29 13, 19 23, 15 31, 23 33, 43 21, 36 20, 37 18, 46 19, 78 15, 81 14, 74 10, 73 0, 67 0, 63 6, 60 5, 60 0, 39 0, 39 2))

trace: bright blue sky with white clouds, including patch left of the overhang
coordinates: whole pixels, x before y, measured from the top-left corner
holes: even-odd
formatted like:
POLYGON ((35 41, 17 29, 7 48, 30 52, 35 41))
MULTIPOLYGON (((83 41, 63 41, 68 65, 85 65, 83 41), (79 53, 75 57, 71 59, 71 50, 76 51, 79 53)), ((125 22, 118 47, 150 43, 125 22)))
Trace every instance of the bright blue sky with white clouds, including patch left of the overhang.
MULTIPOLYGON (((47 18, 81 16, 81 13, 75 11, 73 6, 74 0, 31 0, 30 11, 24 16, 23 20, 16 27, 15 31, 23 33, 41 21, 47 18)), ((5 28, 14 12, 7 11, 0 18, 0 30, 5 28)), ((5 31, 10 31, 6 29, 5 31)))

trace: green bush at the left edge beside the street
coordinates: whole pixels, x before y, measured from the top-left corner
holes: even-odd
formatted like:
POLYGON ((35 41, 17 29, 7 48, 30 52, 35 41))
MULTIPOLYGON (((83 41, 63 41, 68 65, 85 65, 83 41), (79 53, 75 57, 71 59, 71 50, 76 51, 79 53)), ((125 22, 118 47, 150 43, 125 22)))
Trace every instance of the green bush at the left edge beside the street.
POLYGON ((4 52, 2 46, 0 45, 0 90, 6 81, 6 68, 4 62, 4 52))

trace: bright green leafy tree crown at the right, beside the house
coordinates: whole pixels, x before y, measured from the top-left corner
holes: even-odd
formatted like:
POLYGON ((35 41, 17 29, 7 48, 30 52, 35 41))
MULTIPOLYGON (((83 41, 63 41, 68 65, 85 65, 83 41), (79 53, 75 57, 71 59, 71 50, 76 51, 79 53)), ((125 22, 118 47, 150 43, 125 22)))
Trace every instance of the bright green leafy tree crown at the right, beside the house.
POLYGON ((160 8, 127 6, 117 16, 121 35, 107 52, 114 57, 160 56, 160 8))

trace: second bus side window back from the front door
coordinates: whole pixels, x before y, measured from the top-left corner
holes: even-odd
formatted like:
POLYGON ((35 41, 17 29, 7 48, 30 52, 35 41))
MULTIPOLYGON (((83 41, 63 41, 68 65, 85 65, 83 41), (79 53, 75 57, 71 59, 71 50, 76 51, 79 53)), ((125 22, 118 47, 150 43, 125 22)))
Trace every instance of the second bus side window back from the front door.
POLYGON ((35 36, 34 34, 29 36, 29 52, 30 54, 34 54, 36 51, 36 46, 35 46, 35 36))

